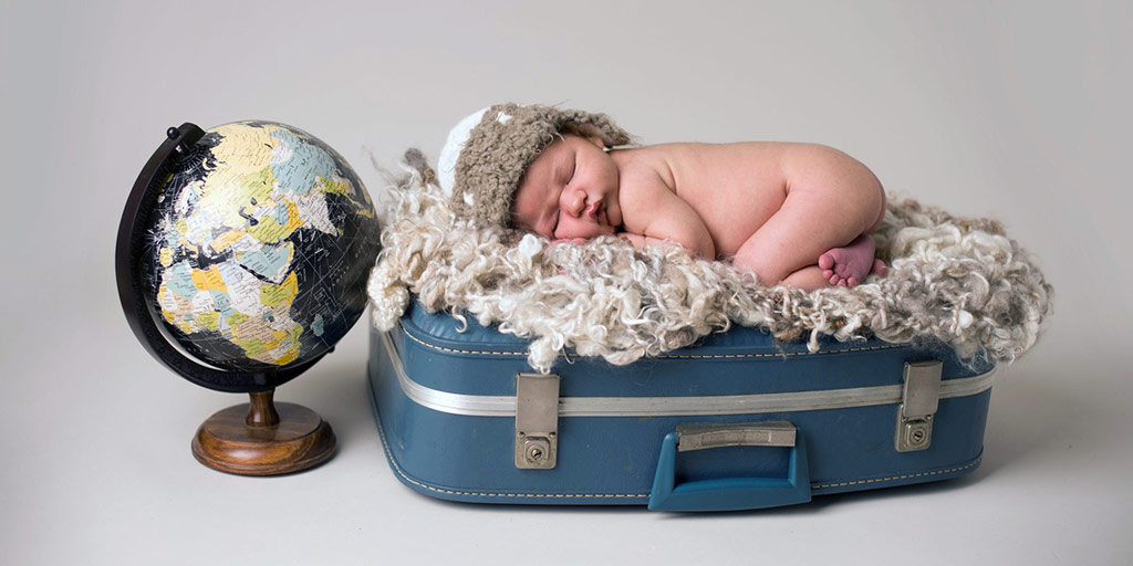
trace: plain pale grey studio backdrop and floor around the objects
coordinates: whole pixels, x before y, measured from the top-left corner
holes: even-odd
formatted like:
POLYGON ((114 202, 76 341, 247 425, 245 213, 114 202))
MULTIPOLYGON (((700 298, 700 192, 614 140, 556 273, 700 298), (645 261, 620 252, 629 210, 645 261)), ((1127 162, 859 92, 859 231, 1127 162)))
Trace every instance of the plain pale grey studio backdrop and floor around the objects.
POLYGON ((1119 564, 1133 556, 1128 2, 10 2, 0 11, 0 563, 1119 564), (304 128, 372 194, 491 103, 605 111, 647 143, 819 142, 1003 220, 1056 286, 970 477, 765 513, 435 501, 391 474, 366 325, 276 398, 340 452, 212 472, 244 402, 172 376, 120 312, 114 230, 165 127, 304 128))

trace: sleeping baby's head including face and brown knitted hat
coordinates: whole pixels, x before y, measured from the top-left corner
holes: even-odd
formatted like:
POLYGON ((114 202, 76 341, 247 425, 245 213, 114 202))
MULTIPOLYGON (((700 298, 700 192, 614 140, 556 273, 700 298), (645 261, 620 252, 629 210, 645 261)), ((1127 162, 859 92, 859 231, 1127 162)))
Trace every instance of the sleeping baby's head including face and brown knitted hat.
POLYGON ((605 114, 497 104, 452 129, 437 177, 459 217, 591 238, 621 224, 617 168, 604 148, 629 142, 605 114))

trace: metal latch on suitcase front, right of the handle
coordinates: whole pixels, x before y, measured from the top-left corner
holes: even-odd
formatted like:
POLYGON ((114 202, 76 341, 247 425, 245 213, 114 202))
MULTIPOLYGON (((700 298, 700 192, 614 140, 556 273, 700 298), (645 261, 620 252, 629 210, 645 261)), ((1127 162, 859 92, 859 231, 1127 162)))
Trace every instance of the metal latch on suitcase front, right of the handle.
POLYGON ((939 360, 905 362, 905 392, 897 409, 897 452, 923 451, 932 444, 932 415, 940 404, 939 360))

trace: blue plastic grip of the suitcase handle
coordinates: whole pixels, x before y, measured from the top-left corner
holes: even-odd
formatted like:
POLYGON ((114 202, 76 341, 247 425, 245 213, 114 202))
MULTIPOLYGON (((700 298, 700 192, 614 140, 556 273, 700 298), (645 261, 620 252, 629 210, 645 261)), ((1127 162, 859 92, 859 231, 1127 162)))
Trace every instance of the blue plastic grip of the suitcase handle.
POLYGON ((802 431, 791 448, 786 478, 727 478, 676 483, 676 432, 665 435, 657 474, 649 494, 650 511, 742 511, 810 500, 810 468, 802 431))

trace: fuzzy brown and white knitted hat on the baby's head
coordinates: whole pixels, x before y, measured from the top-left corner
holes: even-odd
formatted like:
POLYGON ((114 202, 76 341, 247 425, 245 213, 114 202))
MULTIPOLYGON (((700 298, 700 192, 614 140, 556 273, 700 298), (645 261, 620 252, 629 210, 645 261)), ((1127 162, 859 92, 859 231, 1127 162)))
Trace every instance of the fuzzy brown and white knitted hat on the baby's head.
POLYGON ((563 132, 598 136, 606 147, 630 143, 608 115, 581 110, 506 103, 461 120, 437 163, 452 212, 483 225, 509 225, 523 172, 563 132))

